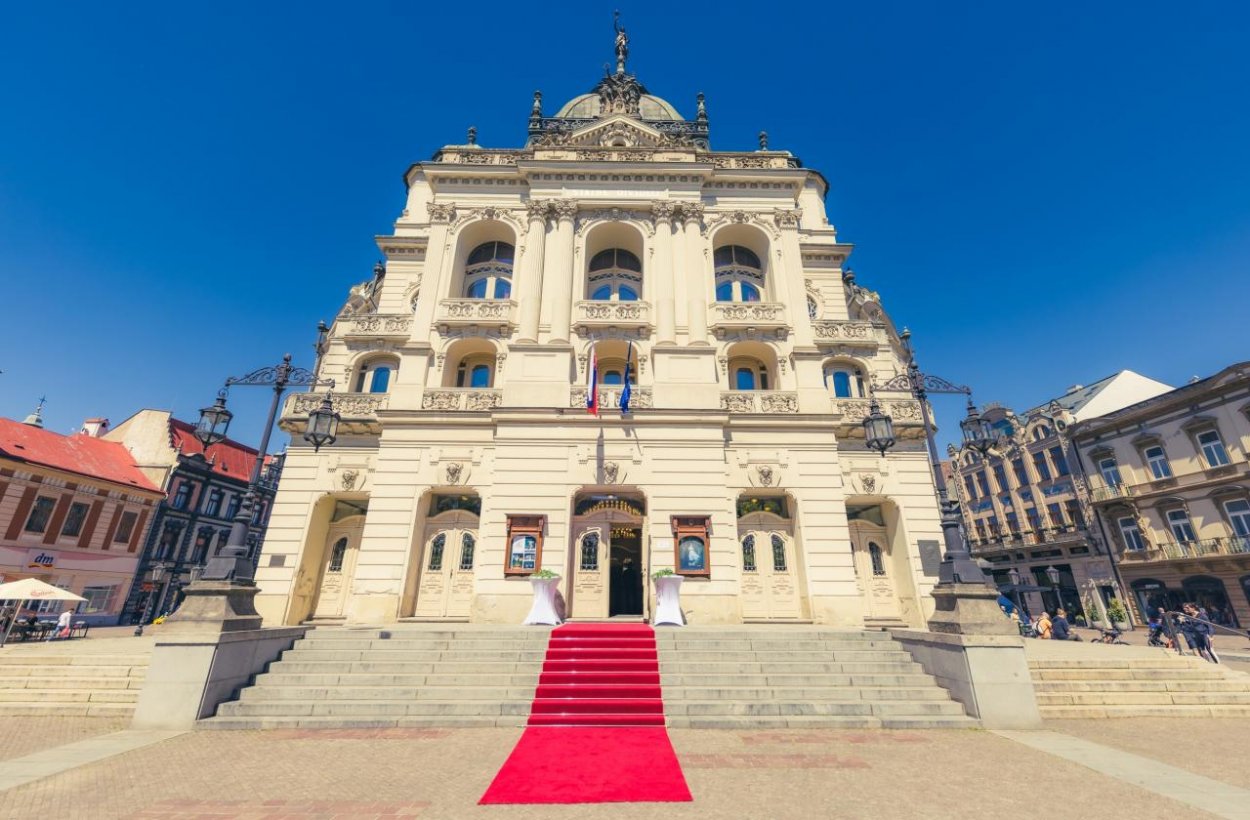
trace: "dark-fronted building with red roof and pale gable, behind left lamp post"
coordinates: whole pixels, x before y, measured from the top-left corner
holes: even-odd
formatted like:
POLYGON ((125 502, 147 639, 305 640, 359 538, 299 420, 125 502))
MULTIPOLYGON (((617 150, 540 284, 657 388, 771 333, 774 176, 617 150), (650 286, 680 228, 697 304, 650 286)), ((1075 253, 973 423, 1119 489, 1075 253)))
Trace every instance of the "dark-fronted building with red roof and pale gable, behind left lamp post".
MULTIPOLYGON (((181 600, 182 588, 229 540, 256 464, 256 450, 225 439, 205 455, 195 425, 172 418, 168 410, 140 410, 111 430, 108 420, 89 420, 85 429, 125 445, 139 469, 165 491, 139 556, 136 582, 122 608, 122 620, 138 622, 145 612, 171 611, 181 600), (154 579, 156 566, 161 571, 154 579)), ((254 565, 265 539, 281 461, 282 456, 269 456, 262 468, 260 499, 248 530, 254 565)))

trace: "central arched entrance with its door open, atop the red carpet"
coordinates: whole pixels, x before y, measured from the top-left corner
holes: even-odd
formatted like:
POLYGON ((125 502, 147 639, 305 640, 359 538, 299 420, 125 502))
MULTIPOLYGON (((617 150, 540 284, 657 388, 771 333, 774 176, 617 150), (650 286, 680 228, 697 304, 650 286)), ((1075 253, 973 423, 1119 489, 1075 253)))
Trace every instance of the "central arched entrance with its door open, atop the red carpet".
POLYGON ((639 494, 581 492, 574 499, 571 618, 646 614, 645 519, 639 494))

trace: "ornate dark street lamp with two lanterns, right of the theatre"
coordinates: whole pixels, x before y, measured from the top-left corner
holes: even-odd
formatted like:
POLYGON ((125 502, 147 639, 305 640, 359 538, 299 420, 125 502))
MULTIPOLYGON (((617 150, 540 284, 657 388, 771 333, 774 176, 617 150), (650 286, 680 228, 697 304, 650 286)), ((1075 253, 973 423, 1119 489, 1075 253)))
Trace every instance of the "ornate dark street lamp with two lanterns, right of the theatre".
MULTIPOLYGON (((904 329, 899 338, 902 341, 908 369, 876 390, 906 390, 920 404, 920 419, 925 429, 925 445, 938 491, 945 546, 945 554, 938 568, 938 584, 932 591, 936 608, 929 621, 929 629, 951 634, 1014 634, 1011 621, 1002 619, 1002 612, 998 608, 998 590, 972 560, 960 526, 959 504, 948 492, 946 478, 942 475, 938 445, 934 441, 934 424, 929 415, 929 394, 948 392, 968 396, 968 416, 959 422, 959 426, 965 446, 982 456, 994 445, 994 431, 989 421, 976 411, 972 391, 969 388, 921 372, 911 349, 911 331, 904 329)), ((894 420, 881 411, 875 390, 869 414, 864 419, 864 435, 868 446, 880 451, 882 456, 895 444, 894 420)))

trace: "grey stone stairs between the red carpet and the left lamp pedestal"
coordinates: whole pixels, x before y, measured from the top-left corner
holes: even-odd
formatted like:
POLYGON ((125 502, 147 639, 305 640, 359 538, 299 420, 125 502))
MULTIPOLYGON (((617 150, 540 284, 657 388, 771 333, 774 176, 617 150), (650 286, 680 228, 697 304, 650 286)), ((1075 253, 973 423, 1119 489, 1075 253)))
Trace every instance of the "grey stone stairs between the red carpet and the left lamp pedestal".
POLYGON ((318 628, 201 729, 524 726, 550 630, 318 628))

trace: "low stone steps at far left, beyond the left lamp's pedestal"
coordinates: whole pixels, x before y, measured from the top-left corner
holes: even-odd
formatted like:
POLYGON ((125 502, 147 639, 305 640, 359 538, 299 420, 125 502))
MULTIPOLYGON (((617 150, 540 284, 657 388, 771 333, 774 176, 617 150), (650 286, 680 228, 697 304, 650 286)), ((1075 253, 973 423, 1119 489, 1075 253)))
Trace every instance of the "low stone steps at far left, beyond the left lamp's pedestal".
POLYGON ((146 651, 71 655, 58 645, 12 648, 0 655, 0 718, 129 718, 148 661, 146 651))

